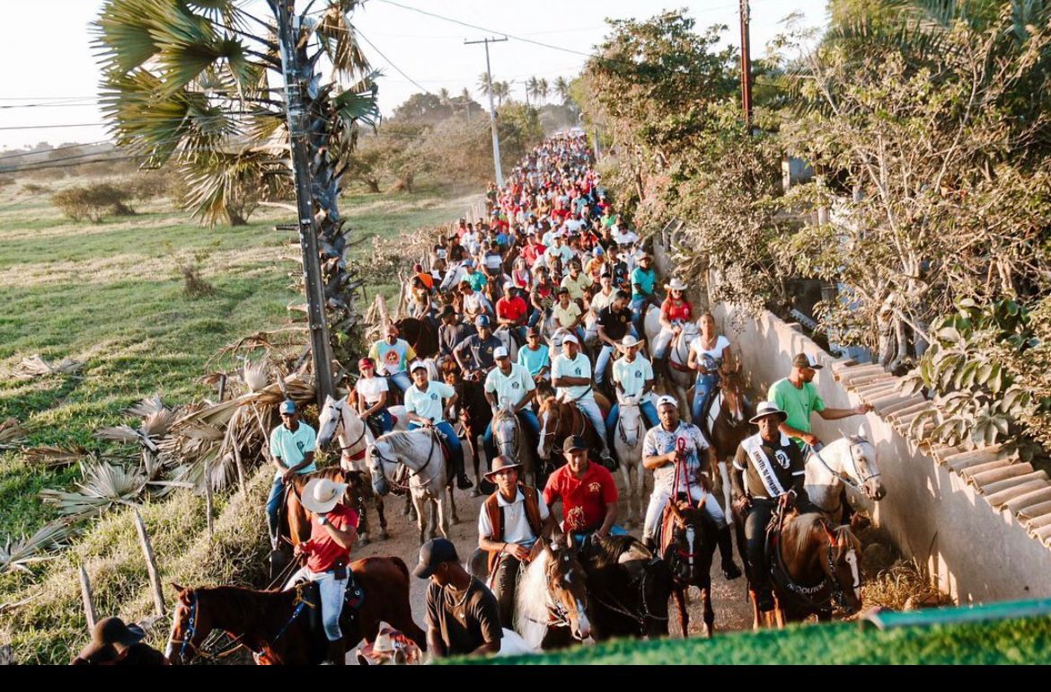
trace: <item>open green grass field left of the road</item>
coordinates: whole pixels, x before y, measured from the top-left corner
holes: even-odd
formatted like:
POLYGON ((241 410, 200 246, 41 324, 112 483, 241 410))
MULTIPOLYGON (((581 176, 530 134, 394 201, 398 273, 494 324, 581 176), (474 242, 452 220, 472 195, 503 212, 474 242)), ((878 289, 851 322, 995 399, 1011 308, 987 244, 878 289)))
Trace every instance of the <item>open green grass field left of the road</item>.
MULTIPOLYGON (((391 237, 455 219, 467 204, 430 189, 355 195, 342 211, 353 238, 391 237)), ((0 190, 0 372, 34 353, 86 364, 82 378, 0 380, 0 420, 21 421, 29 445, 99 449, 92 432, 125 422, 122 409, 143 396, 182 404, 213 394, 199 382, 206 361, 227 343, 280 326, 286 306, 303 302, 288 276, 298 269, 298 247, 289 245, 295 237, 273 230, 288 212, 261 209, 248 226, 202 228, 166 202, 137 208, 135 217, 75 223, 46 194, 0 190), (210 252, 202 266, 215 293, 192 300, 182 292, 172 253, 195 250, 210 252)), ((353 259, 367 261, 365 251, 353 259)), ((368 298, 394 291, 367 288, 368 298)), ((0 534, 48 521, 37 493, 68 486, 77 474, 32 469, 18 452, 0 452, 0 534)))

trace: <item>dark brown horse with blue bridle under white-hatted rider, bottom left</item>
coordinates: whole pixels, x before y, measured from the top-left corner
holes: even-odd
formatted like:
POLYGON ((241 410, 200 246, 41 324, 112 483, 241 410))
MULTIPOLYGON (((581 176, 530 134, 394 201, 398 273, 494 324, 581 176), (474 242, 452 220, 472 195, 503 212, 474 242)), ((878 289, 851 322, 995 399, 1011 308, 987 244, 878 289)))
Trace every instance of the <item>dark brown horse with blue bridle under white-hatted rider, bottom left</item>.
MULTIPOLYGON (((366 595, 358 608, 344 607, 339 627, 346 649, 363 638, 374 639, 382 620, 426 649, 427 636, 412 619, 405 563, 399 557, 367 557, 351 563, 350 569, 366 595)), ((171 586, 179 595, 165 656, 174 665, 199 656, 214 657, 204 646, 213 630, 226 632, 261 665, 308 665, 325 659, 327 642, 316 599, 314 604, 305 601, 305 585, 288 591, 171 586)))

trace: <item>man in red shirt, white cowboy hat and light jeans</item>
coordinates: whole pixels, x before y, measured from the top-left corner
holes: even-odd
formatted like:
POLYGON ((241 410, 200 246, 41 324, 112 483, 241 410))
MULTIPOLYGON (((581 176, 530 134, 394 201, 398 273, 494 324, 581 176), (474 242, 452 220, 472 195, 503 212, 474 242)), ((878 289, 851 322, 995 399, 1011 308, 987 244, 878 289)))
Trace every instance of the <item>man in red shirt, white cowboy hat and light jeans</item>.
POLYGON ((329 479, 312 479, 303 488, 300 500, 311 512, 310 540, 295 547, 295 557, 306 555, 307 565, 289 582, 305 576, 317 583, 328 659, 333 666, 346 663, 339 614, 349 581, 350 549, 357 541, 357 512, 339 502, 346 490, 347 484, 329 479))

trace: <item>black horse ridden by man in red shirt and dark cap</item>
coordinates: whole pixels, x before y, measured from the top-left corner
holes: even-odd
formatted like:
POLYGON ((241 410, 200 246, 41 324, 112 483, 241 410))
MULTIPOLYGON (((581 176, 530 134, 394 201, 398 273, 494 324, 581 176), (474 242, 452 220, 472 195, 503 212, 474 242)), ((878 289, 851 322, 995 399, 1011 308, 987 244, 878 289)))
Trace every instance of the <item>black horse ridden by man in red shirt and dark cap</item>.
POLYGON ((592 534, 578 552, 588 576, 592 636, 667 636, 667 603, 675 584, 667 565, 630 535, 592 534))

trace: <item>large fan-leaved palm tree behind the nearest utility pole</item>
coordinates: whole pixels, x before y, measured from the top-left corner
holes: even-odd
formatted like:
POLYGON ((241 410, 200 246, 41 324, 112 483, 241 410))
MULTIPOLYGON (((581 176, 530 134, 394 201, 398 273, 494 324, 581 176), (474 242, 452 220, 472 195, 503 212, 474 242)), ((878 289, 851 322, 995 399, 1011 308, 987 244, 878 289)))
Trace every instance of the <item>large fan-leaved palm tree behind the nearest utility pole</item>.
MULTIPOLYGON (((151 166, 178 168, 204 223, 243 221, 239 208, 289 189, 289 134, 277 43, 281 2, 255 17, 240 0, 106 0, 92 28, 101 102, 116 143, 151 166)), ((357 43, 357 0, 325 0, 298 16, 311 202, 333 341, 356 322, 356 284, 337 198, 362 124, 378 119, 377 73, 357 43), (325 81, 322 67, 331 69, 325 81)), ((313 6, 313 5, 311 5, 313 6)), ((294 2, 293 2, 294 8, 294 2)), ((333 351, 339 349, 333 344, 333 351)))

